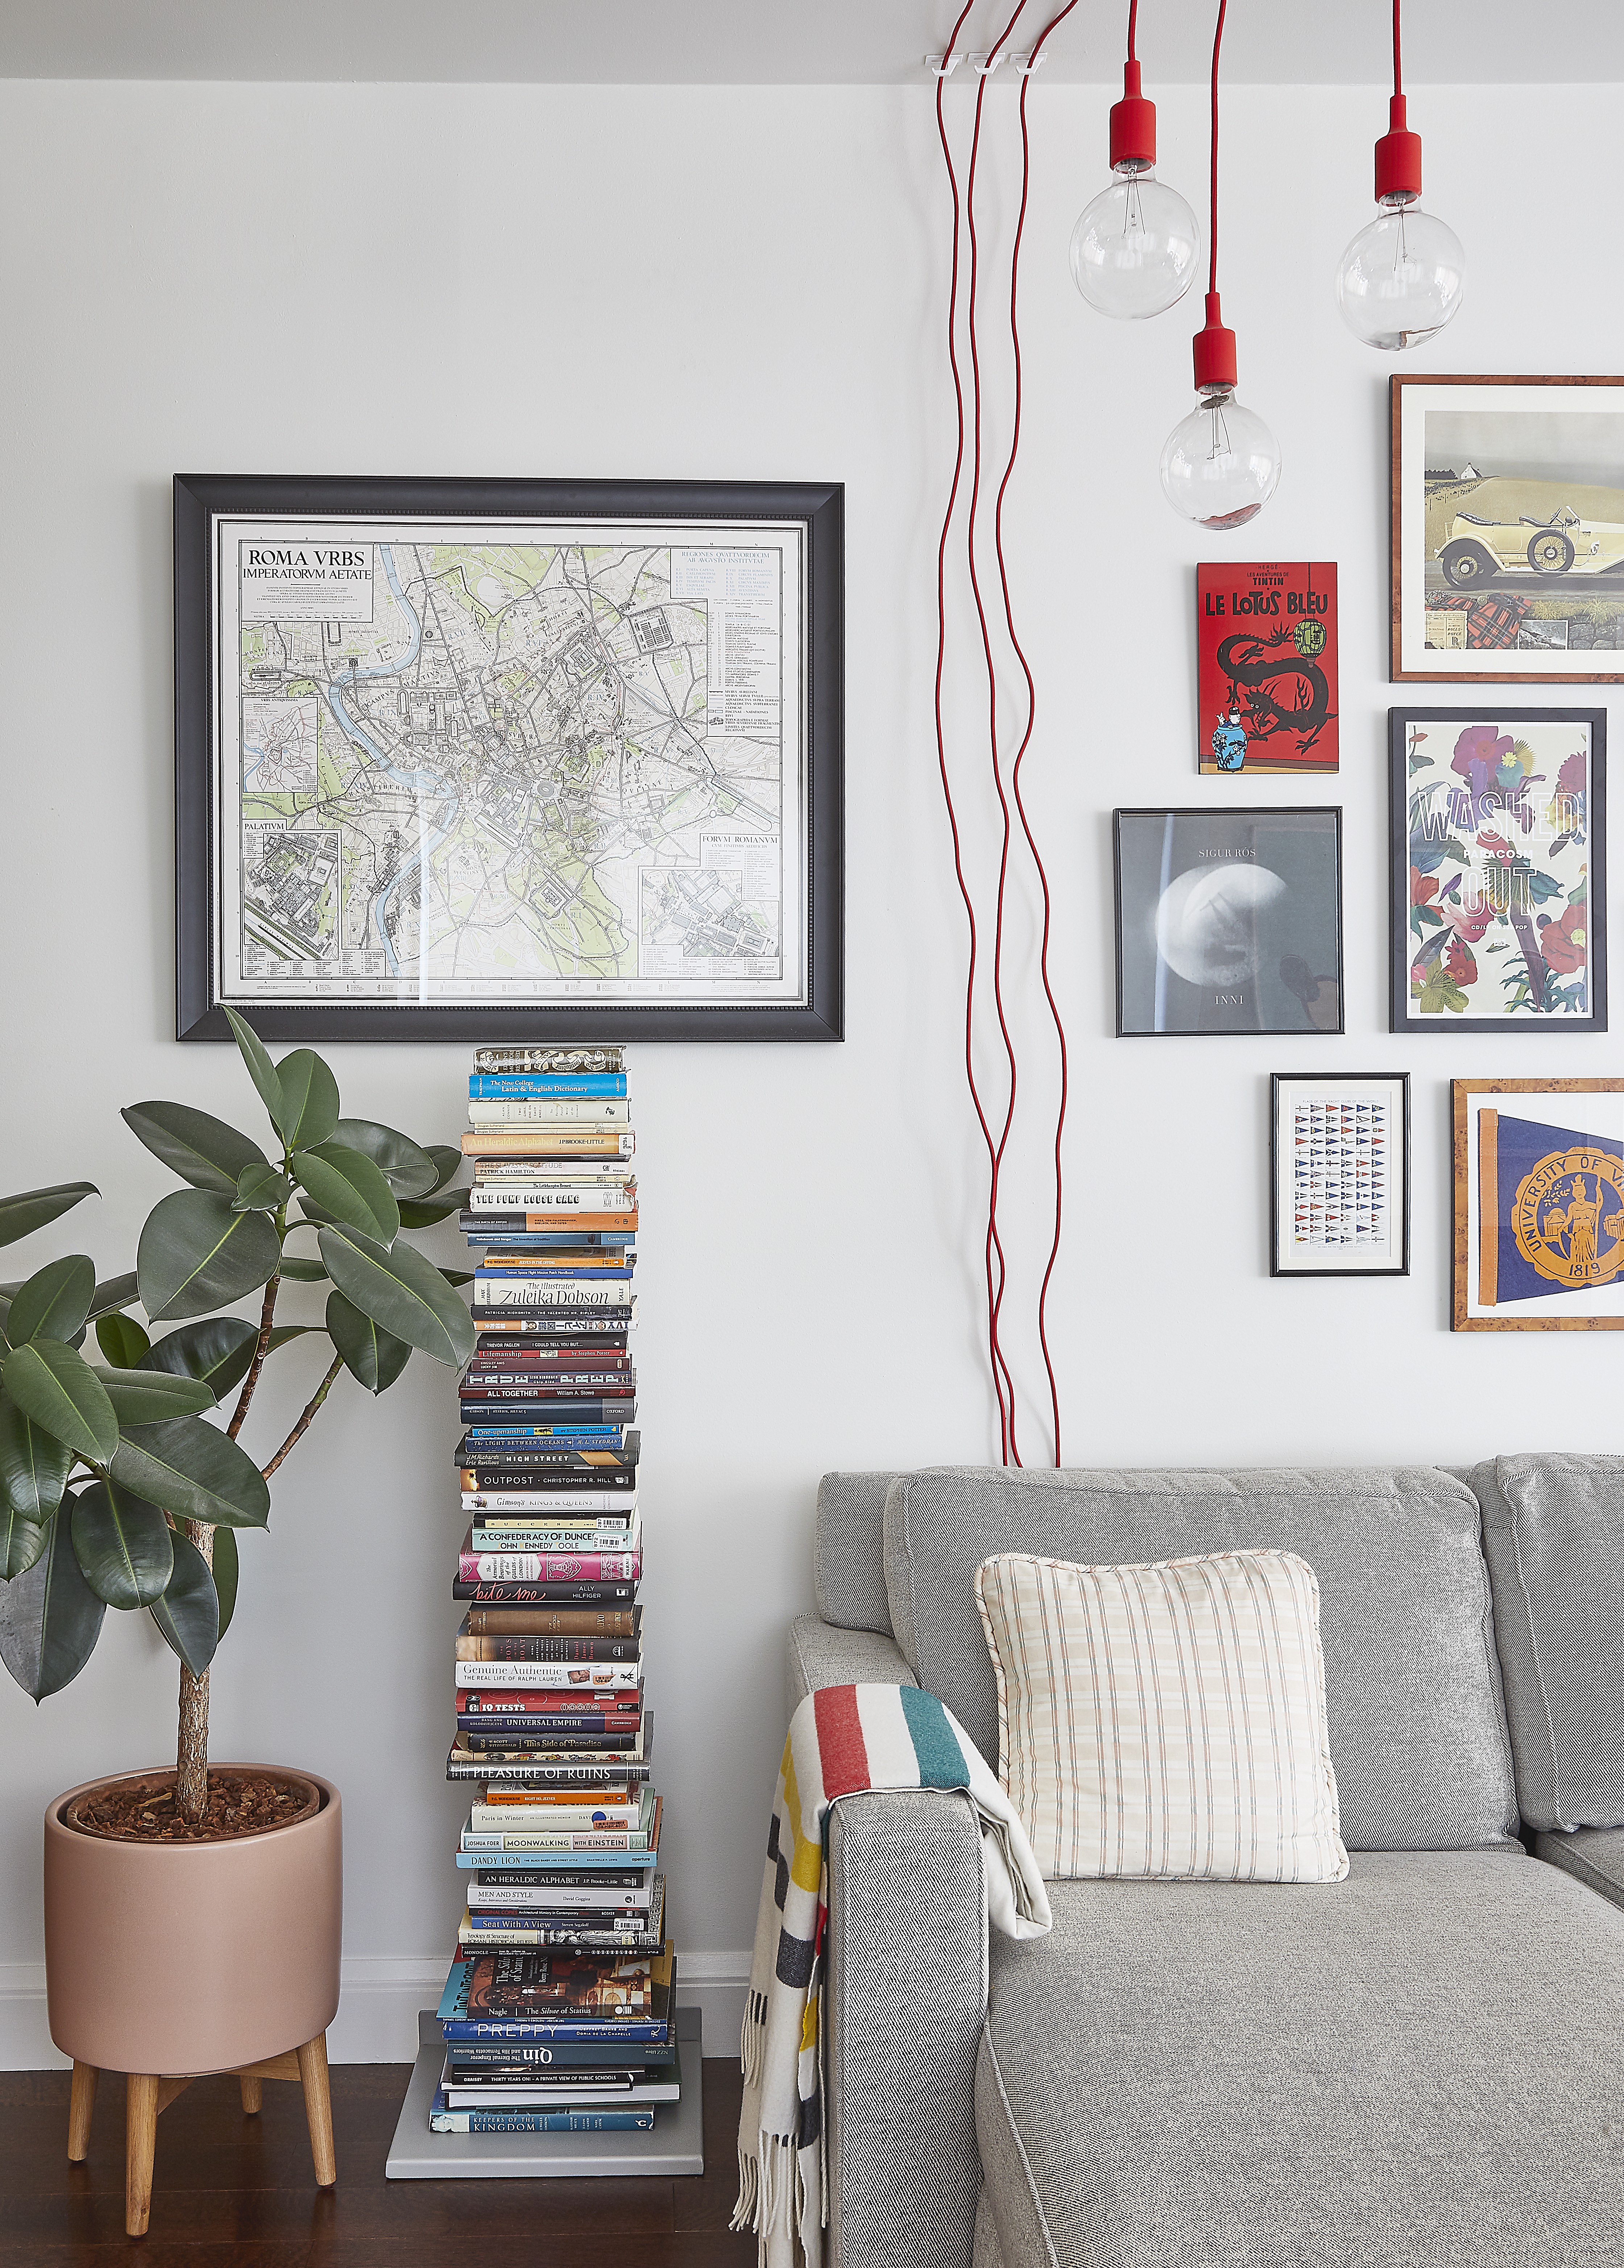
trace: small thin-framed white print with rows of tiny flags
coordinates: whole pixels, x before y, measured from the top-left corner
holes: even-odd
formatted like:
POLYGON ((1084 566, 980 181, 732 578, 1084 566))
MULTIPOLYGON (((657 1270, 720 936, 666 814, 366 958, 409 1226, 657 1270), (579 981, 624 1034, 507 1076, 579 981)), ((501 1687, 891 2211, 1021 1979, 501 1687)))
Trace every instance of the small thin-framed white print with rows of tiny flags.
POLYGON ((1409 1275, 1409 1073, 1277 1070, 1268 1102, 1268 1272, 1409 1275))

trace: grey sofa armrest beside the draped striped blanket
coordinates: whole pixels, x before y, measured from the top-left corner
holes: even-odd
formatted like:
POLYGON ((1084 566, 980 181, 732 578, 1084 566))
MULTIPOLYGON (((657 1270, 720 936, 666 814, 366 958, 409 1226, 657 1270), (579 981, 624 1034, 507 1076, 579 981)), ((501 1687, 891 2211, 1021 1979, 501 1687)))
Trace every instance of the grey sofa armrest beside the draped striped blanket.
POLYGON ((832 2268, 971 2268, 984 2009, 987 1887, 969 1799, 846 1796, 828 1837, 832 2268))

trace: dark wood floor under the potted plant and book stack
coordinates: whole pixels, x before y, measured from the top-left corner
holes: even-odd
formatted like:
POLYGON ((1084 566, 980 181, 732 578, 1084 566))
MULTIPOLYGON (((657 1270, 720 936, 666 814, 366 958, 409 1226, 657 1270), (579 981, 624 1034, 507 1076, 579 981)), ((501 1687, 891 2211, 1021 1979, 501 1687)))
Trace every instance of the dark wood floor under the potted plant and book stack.
POLYGON ((705 2173, 687 2182, 386 2182, 408 2064, 336 2064, 338 2189, 313 2189, 297 2087, 197 2080, 159 2118, 152 2227, 125 2236, 125 2087, 104 2077, 91 2155, 68 2164, 68 2073, 0 2073, 0 2261, 77 2268, 753 2268, 733 2236, 739 2066, 705 2059, 705 2173))

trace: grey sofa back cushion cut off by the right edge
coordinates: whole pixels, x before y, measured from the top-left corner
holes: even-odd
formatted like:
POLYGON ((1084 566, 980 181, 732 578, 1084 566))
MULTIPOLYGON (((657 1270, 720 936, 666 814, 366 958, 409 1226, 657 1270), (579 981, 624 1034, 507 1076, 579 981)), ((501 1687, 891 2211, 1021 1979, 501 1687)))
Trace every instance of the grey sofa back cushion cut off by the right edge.
POLYGON ((1522 1817, 1624 1826, 1624 1456, 1499 1456, 1472 1488, 1522 1817))

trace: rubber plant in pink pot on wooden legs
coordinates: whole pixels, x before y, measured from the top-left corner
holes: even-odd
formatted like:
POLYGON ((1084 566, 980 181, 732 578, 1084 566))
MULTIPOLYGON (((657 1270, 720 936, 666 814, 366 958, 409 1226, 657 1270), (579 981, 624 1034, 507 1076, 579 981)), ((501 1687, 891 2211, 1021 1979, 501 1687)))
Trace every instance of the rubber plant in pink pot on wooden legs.
MULTIPOLYGON (((68 2155, 84 2157, 95 2073, 127 2073, 132 2234, 177 2077, 238 2071, 245 2109, 261 2077, 302 2077, 318 2180, 333 2180, 338 1792, 286 1767, 211 1774, 209 1674, 236 1606, 236 1531, 268 1524, 270 1479, 340 1374, 381 1395, 413 1349, 463 1363, 474 1345, 463 1277, 404 1236, 463 1202, 458 1152, 345 1118, 320 1055, 272 1064, 227 1016, 272 1139, 184 1102, 132 1105, 125 1123, 181 1182, 147 1213, 134 1275, 98 1284, 66 1254, 0 1286, 0 1658, 43 1701, 84 1669, 111 1606, 152 1615, 181 1665, 175 1771, 75 1787, 45 1812, 50 2030, 75 2059, 68 2155), (286 1281, 329 1286, 320 1325, 277 1322, 286 1281), (259 1320, 229 1313, 254 1293, 259 1320), (331 1363, 259 1465, 243 1422, 279 1349, 308 1336, 331 1343, 331 1363)), ((66 1182, 0 1198, 0 1245, 91 1195, 66 1182)))

